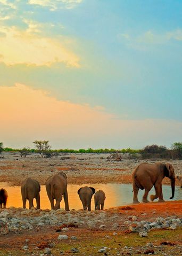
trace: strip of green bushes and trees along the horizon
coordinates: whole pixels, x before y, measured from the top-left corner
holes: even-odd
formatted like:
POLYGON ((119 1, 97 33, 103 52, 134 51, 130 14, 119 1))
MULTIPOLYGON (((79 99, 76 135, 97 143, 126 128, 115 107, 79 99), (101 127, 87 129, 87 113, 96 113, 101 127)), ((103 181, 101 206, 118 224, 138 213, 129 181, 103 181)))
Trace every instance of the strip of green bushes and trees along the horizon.
POLYGON ((12 149, 3 148, 3 143, 0 142, 0 153, 6 152, 20 152, 20 157, 26 157, 30 153, 38 153, 40 157, 51 158, 58 157, 61 153, 109 153, 110 158, 122 159, 122 157, 130 158, 142 158, 142 159, 182 159, 182 142, 175 142, 172 144, 171 149, 167 149, 166 146, 159 146, 156 144, 147 145, 143 149, 51 149, 49 141, 34 141, 35 149, 23 148, 23 149, 12 149))

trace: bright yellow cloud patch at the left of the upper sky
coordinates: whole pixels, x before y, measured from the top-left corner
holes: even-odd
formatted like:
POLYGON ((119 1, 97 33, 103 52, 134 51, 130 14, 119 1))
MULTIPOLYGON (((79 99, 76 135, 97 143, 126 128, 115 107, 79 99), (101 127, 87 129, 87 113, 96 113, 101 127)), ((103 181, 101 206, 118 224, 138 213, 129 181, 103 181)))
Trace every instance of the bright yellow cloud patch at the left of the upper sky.
POLYGON ((27 64, 50 66, 54 63, 65 63, 67 66, 79 67, 79 58, 67 49, 59 39, 43 37, 39 32, 39 25, 28 22, 27 30, 15 27, 1 27, 4 35, 0 41, 1 61, 6 65, 27 64))

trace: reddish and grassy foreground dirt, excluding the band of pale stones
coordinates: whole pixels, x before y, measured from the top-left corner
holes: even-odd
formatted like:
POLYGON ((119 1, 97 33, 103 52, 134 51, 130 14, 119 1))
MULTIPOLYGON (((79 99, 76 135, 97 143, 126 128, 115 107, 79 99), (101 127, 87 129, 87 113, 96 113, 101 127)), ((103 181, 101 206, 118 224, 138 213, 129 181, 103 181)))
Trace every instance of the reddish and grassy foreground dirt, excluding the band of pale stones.
MULTIPOLYGON (((61 227, 45 226, 36 230, 24 231, 1 236, 0 255, 46 255, 44 250, 52 243, 51 253, 53 255, 145 255, 144 251, 154 250, 155 255, 181 255, 182 236, 181 228, 175 230, 154 229, 148 233, 148 237, 140 238, 138 234, 131 233, 124 227, 123 218, 130 219, 133 215, 138 221, 153 221, 158 216, 166 218, 167 216, 182 217, 182 201, 172 201, 166 203, 148 203, 129 205, 124 207, 112 208, 107 214, 120 214, 121 222, 117 228, 107 228, 104 230, 88 227, 71 227, 67 232, 61 231, 61 227), (76 236, 77 240, 58 241, 59 235, 68 237, 76 236), (152 243, 151 245, 147 244, 152 243), (167 245, 161 246, 161 243, 167 245), (168 245, 169 244, 169 245, 168 245), (28 246, 27 250, 23 247, 28 246), (109 248, 106 254, 98 253, 102 247, 109 248), (72 253, 72 249, 78 249, 79 253, 72 253), (165 254, 166 253, 166 254, 165 254)), ((111 226, 113 223, 110 223, 111 226)))

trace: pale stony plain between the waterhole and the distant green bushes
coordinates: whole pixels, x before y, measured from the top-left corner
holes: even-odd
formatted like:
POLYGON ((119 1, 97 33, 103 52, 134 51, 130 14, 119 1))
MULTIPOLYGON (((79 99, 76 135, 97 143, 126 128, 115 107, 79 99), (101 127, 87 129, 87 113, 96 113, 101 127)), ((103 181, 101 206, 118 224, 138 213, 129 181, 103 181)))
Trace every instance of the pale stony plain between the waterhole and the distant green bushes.
MULTIPOLYGON (((47 177, 62 170, 69 184, 81 183, 130 183, 131 173, 144 160, 124 158, 120 162, 107 161, 109 154, 62 154, 58 158, 40 158, 31 154, 20 158, 17 153, 3 153, 0 158, 0 182, 20 185, 23 179, 32 177, 45 184, 47 177)), ((155 162, 145 160, 147 162, 155 162)), ((161 160, 166 162, 166 160, 161 160)), ((169 161, 176 175, 182 175, 182 161, 169 161)), ((169 179, 163 183, 169 184, 169 179)), ((178 183, 177 183, 178 184, 178 183)))

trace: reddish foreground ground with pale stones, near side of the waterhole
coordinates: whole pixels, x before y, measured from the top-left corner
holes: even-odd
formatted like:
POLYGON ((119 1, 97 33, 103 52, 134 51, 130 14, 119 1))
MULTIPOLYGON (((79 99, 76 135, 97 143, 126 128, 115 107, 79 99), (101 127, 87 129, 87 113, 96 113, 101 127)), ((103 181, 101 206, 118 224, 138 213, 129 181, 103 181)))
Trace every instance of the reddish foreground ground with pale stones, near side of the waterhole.
POLYGON ((172 201, 91 212, 12 207, 0 211, 0 255, 181 255, 181 206, 172 201))

